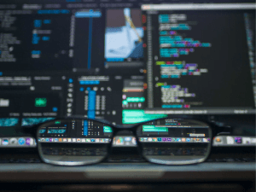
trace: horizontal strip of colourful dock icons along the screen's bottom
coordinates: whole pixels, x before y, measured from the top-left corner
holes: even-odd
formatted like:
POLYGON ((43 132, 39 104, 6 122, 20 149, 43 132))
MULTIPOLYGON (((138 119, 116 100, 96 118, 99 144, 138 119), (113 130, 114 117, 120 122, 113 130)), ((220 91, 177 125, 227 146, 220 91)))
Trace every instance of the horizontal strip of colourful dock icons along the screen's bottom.
MULTIPOLYGON (((42 142, 42 137, 39 138, 42 142)), ((46 138, 44 138, 46 139, 46 138)), ((49 138, 50 139, 50 138, 49 138)), ((58 139, 56 143, 68 143, 65 138, 58 139), (60 141, 61 139, 61 141, 60 141)), ((73 138, 70 143, 84 143, 84 138, 73 138)), ((87 138, 88 139, 88 138, 87 138)), ((90 138, 88 143, 101 143, 103 138, 90 138), (91 140, 93 140, 91 142, 91 140)), ((111 142, 111 139, 104 138, 104 143, 111 142)), ((140 137, 142 143, 209 143, 210 138, 198 138, 198 137, 140 137)), ((50 143, 49 140, 47 140, 50 143)), ((51 140, 52 141, 52 140, 51 140)), ((54 140, 55 141, 55 140, 54 140)), ((86 139, 85 139, 86 143, 86 139)), ((102 141, 103 143, 103 141, 102 141)), ((37 142, 32 137, 1 137, 0 148, 35 148, 37 142)), ((212 139, 212 147, 256 147, 256 137, 249 136, 216 136, 212 139)), ((137 141, 135 137, 122 136, 113 137, 113 147, 137 147, 137 141)))

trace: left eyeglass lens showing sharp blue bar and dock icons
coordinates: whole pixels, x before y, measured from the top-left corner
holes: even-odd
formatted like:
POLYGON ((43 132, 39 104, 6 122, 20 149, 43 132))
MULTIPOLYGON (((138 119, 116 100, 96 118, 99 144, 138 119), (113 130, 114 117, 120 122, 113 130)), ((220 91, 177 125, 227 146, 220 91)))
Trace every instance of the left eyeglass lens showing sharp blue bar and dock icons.
POLYGON ((112 128, 88 119, 55 120, 38 129, 38 151, 45 162, 55 165, 86 165, 108 154, 112 128))

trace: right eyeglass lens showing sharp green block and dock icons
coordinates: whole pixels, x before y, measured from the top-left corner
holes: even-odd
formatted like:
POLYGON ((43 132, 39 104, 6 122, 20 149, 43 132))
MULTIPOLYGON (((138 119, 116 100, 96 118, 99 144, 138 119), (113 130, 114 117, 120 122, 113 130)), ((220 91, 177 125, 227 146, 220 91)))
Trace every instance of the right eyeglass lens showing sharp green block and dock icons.
POLYGON ((154 163, 184 165, 206 160, 211 128, 188 119, 160 119, 141 125, 137 137, 143 156, 154 163))

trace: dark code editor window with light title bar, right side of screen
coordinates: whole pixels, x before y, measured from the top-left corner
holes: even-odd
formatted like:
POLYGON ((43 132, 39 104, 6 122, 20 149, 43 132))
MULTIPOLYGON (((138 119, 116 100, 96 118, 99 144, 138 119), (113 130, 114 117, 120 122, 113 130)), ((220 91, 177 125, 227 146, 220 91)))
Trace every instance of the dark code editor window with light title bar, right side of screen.
POLYGON ((146 113, 255 113, 255 4, 142 9, 146 113))

